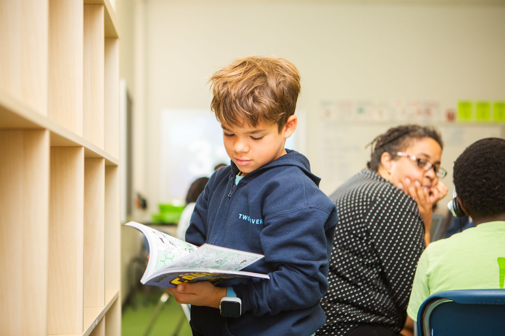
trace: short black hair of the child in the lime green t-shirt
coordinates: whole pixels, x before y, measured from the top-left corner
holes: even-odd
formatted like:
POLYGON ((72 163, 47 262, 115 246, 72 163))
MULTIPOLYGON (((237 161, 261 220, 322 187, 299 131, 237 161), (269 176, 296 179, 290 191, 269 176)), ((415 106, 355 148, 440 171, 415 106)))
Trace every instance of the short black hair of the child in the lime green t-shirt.
POLYGON ((458 196, 475 215, 505 212, 505 140, 483 139, 470 145, 454 162, 458 196))

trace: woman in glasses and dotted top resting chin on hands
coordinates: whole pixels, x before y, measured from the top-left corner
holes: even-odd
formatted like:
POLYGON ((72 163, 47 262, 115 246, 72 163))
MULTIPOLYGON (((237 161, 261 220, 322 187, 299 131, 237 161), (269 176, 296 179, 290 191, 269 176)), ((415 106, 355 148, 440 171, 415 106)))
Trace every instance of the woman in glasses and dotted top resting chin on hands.
POLYGON ((330 198, 339 221, 320 335, 397 335, 416 264, 429 242, 432 207, 447 194, 439 181, 442 140, 432 128, 405 125, 371 143, 368 170, 330 198))

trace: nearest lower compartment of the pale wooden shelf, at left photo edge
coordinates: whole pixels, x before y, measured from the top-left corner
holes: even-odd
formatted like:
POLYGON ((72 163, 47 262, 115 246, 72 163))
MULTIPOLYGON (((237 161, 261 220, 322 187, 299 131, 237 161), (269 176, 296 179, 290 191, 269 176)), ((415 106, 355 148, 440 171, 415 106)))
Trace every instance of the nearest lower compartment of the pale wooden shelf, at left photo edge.
POLYGON ((0 325, 45 335, 49 134, 0 130, 0 325))

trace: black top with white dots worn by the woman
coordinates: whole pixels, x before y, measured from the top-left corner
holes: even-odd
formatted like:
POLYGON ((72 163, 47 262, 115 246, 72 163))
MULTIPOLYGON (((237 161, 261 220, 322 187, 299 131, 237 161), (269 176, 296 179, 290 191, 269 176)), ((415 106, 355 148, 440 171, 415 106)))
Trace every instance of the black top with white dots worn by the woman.
POLYGON ((321 301, 320 335, 345 335, 362 323, 403 328, 417 261, 425 249, 424 224, 413 198, 365 170, 330 196, 338 223, 321 301))

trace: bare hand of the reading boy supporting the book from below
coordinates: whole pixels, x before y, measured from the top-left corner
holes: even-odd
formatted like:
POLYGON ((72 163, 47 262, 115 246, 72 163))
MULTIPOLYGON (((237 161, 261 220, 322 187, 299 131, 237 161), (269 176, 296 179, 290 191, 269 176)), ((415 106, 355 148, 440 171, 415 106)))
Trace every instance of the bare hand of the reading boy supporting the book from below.
POLYGON ((226 296, 225 287, 216 287, 207 281, 194 284, 180 284, 167 290, 175 296, 177 303, 219 308, 221 298, 226 296))

